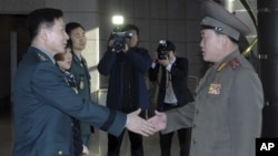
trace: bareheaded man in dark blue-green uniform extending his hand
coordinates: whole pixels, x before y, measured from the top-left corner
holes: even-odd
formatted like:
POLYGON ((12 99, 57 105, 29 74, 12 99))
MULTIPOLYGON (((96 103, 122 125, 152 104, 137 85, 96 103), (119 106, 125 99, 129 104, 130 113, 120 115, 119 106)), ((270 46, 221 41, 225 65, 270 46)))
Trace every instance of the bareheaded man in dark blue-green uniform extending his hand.
POLYGON ((31 45, 20 61, 14 77, 12 156, 73 156, 72 118, 87 122, 112 135, 125 128, 143 136, 153 134, 151 124, 82 98, 64 81, 53 55, 64 52, 69 39, 63 12, 43 8, 28 18, 31 45))

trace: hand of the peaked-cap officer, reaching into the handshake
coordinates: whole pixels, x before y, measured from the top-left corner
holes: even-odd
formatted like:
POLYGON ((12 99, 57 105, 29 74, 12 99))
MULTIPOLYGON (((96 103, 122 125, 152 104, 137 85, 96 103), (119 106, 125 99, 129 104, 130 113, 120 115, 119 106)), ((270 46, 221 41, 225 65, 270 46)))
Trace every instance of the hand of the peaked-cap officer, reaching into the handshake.
POLYGON ((155 111, 155 113, 156 115, 149 118, 148 122, 155 126, 156 132, 165 129, 167 124, 167 115, 158 111, 155 111))

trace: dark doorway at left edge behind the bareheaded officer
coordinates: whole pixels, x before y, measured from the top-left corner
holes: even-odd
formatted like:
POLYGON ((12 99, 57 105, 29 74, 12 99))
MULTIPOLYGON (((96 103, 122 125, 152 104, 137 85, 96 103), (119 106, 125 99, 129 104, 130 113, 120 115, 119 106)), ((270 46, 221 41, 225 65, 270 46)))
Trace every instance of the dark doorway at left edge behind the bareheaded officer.
POLYGON ((13 73, 30 43, 26 19, 22 14, 0 14, 0 117, 11 113, 13 73))

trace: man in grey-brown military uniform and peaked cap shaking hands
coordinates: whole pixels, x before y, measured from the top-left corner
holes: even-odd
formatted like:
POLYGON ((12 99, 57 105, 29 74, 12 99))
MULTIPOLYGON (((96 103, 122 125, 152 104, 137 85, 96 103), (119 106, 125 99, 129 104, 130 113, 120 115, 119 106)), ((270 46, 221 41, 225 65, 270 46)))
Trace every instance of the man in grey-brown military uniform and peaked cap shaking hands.
POLYGON ((211 62, 199 82, 196 101, 149 121, 169 133, 192 127, 190 156, 255 156, 261 132, 264 93, 252 65, 240 54, 240 33, 250 32, 214 1, 203 2, 200 48, 211 62))

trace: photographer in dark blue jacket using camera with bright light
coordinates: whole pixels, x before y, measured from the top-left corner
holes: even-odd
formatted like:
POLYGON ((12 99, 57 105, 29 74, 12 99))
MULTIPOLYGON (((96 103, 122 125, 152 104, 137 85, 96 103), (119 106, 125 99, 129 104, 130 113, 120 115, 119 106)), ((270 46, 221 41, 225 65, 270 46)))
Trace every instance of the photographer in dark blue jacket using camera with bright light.
MULTIPOLYGON (((139 29, 133 24, 127 24, 122 33, 111 35, 108 51, 100 60, 98 70, 100 74, 109 75, 107 106, 126 113, 141 108, 141 116, 145 117, 149 108, 145 74, 151 66, 151 58, 146 49, 138 48, 138 37, 139 29), (131 32, 132 37, 121 35, 123 32, 131 32), (116 41, 123 43, 115 43, 116 41)), ((130 131, 128 133, 131 156, 143 156, 142 136, 130 131)), ((108 134, 108 156, 120 155, 123 134, 125 132, 119 137, 108 134)))

